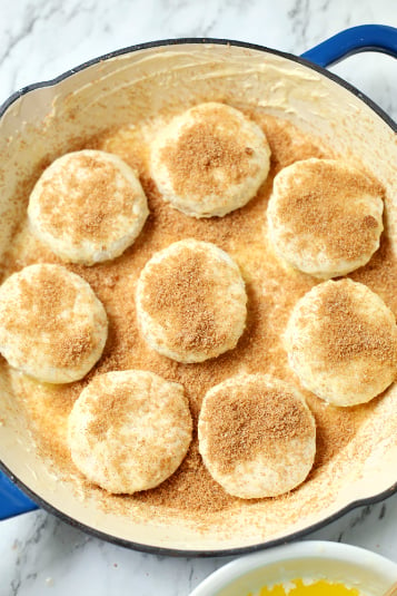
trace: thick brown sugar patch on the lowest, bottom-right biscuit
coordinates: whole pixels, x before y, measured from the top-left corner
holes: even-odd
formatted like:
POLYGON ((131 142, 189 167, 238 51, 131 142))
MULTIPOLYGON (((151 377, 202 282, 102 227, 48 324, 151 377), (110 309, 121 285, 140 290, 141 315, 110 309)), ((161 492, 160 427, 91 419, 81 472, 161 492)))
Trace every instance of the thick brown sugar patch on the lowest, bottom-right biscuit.
POLYGON ((208 398, 202 419, 208 459, 230 473, 241 461, 269 456, 275 447, 314 432, 312 419, 292 393, 256 379, 237 381, 236 390, 219 388, 208 398))

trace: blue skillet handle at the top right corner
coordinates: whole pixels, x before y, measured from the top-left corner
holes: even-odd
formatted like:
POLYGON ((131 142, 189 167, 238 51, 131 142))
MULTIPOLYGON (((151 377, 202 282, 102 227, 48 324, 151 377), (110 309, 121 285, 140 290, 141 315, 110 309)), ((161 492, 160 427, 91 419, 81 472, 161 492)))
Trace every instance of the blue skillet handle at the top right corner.
POLYGON ((326 68, 359 51, 380 51, 397 58, 397 29, 386 25, 359 25, 326 39, 301 58, 326 68))

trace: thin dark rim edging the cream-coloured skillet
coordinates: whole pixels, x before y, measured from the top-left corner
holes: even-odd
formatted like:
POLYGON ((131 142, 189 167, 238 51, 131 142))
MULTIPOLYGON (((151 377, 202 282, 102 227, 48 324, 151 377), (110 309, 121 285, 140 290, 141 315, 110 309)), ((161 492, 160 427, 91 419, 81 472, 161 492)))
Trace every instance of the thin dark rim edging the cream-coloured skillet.
MULTIPOLYGON (((326 68, 322 68, 300 56, 285 52, 281 50, 276 50, 272 48, 268 48, 266 46, 260 46, 257 43, 249 43, 245 41, 237 41, 237 40, 230 40, 230 39, 221 39, 221 38, 177 38, 177 39, 162 39, 162 40, 156 40, 156 41, 148 41, 145 43, 138 43, 128 46, 118 50, 113 50, 110 52, 107 52, 105 55, 101 55, 97 58, 92 58, 90 60, 87 60, 79 66, 71 68, 58 77, 54 77, 49 80, 31 84, 28 86, 22 87, 18 91, 13 92, 6 101, 3 101, 0 105, 0 119, 3 117, 6 111, 11 107, 12 104, 14 104, 18 99, 20 99, 22 96, 28 95, 31 91, 34 91, 36 89, 40 88, 47 88, 47 87, 56 87, 59 82, 63 81, 64 79, 73 76, 75 74, 78 74, 91 66, 98 65, 100 62, 117 58, 119 56, 133 53, 136 51, 140 50, 147 50, 152 48, 162 48, 162 47, 169 47, 169 46, 182 46, 182 45, 217 45, 217 46, 234 46, 238 48, 246 48, 246 49, 252 49, 257 50, 264 53, 271 53, 275 56, 279 56, 281 58, 285 58, 287 60, 290 60, 292 62, 300 63, 311 70, 315 70, 316 72, 319 72, 320 75, 327 77, 328 79, 333 80, 334 82, 338 84, 340 87, 345 88, 347 91, 351 92, 354 96, 356 96, 358 99, 360 99, 364 104, 366 104, 373 111, 376 113, 376 115, 384 120, 384 123, 391 128, 393 131, 397 133, 397 123, 390 118, 375 101, 373 101, 370 98, 368 98, 365 94, 363 94, 359 89, 344 80, 343 78, 338 77, 337 75, 334 75, 333 72, 329 72, 326 68)), ((44 509, 46 511, 57 516, 62 521, 67 522, 68 525, 71 525, 72 527, 76 527, 80 529, 81 531, 93 536, 96 538, 99 538, 101 540, 106 540, 108 543, 122 546, 125 548, 139 550, 142 553, 149 553, 160 556, 175 556, 175 557, 225 557, 225 556, 236 556, 236 555, 244 555, 247 553, 257 553, 259 550, 264 549, 270 549, 274 547, 277 547, 279 545, 285 545, 286 541, 295 541, 300 538, 304 538, 306 535, 318 530, 330 522, 339 519, 344 515, 348 514, 353 509, 356 509, 358 507, 364 507, 368 505, 373 505, 379 501, 385 500, 386 498, 393 496, 394 494, 397 494, 397 479, 396 482, 394 482, 388 489, 384 490, 380 494, 371 495, 369 497, 365 497, 363 499, 357 499, 348 505, 346 507, 339 509, 338 511, 327 516, 324 519, 320 519, 319 521, 315 524, 310 524, 308 527, 291 531, 290 534, 275 538, 272 540, 268 540, 266 543, 257 543, 255 545, 249 546, 241 546, 241 547, 232 547, 232 548, 217 548, 217 549, 209 549, 209 550, 198 550, 198 549, 182 549, 182 548, 171 548, 171 547, 162 547, 162 546, 152 546, 152 545, 146 545, 141 543, 135 543, 133 540, 126 540, 123 538, 119 538, 115 535, 108 534, 102 530, 98 530, 97 528, 93 528, 91 526, 88 526, 83 524, 82 521, 64 514, 63 511, 59 510, 54 506, 52 506, 50 502, 46 501, 40 495, 31 490, 28 486, 26 486, 13 472, 10 470, 3 461, 0 459, 0 470, 3 471, 12 482, 17 485, 19 489, 21 489, 26 495, 28 495, 40 508, 44 509)))

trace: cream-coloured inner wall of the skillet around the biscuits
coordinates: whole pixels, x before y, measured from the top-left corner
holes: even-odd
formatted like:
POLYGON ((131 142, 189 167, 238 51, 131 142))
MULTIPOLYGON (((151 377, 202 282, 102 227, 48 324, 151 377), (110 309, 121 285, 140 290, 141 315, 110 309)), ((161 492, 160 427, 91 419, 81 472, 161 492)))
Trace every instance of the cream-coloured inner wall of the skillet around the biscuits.
MULTIPOLYGON (((0 120, 0 257, 17 223, 26 217, 26 204, 12 201, 17 186, 42 160, 70 150, 81 135, 150 118, 166 106, 178 113, 208 99, 262 107, 321 138, 335 152, 361 159, 386 187, 386 229, 397 242, 397 143, 380 116, 339 84, 288 57, 238 45, 181 42, 105 59, 9 105, 0 120)), ((208 519, 206 527, 185 517, 167 521, 150 508, 137 518, 103 511, 59 481, 34 449, 2 359, 0 417, 0 460, 40 505, 102 538, 152 551, 226 554, 284 541, 357 500, 389 490, 397 480, 396 385, 346 447, 351 452, 345 453, 344 465, 329 470, 331 499, 325 505, 309 502, 302 490, 294 500, 295 516, 286 518, 277 507, 269 512, 257 501, 214 522, 208 519)))

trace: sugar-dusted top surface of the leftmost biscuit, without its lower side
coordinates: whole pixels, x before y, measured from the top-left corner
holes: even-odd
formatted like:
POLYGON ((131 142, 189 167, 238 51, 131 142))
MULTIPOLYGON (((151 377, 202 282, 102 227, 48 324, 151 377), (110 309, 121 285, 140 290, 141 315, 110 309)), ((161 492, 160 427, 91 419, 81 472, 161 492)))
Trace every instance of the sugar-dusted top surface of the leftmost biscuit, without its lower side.
POLYGON ((60 265, 31 265, 1 287, 0 324, 21 338, 18 346, 27 358, 37 346, 52 365, 75 368, 101 342, 98 330, 106 330, 107 319, 99 306, 91 287, 75 273, 60 265))

